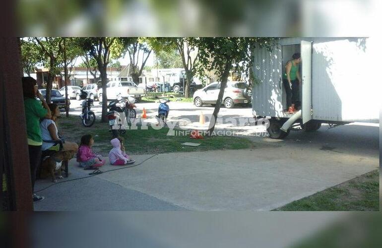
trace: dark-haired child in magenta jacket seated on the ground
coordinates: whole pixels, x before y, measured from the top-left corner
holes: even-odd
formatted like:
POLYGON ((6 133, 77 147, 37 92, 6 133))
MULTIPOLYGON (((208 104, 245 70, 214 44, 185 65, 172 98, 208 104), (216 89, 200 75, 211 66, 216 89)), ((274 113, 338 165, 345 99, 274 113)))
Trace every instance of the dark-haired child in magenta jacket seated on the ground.
POLYGON ((91 134, 86 134, 81 137, 81 144, 79 145, 77 152, 77 162, 79 166, 84 170, 99 169, 105 164, 105 160, 101 155, 96 155, 91 150, 94 144, 94 139, 91 134))

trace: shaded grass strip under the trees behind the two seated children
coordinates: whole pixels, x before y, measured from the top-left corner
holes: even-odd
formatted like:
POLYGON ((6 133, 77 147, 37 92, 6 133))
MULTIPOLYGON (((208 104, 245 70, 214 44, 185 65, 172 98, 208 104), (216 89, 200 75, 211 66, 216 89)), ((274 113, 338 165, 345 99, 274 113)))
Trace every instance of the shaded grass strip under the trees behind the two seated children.
MULTIPOLYGON (((102 155, 107 155, 111 149, 110 140, 112 133, 109 132, 109 125, 96 123, 91 127, 83 127, 80 119, 70 116, 60 120, 64 137, 68 141, 79 143, 84 134, 92 134, 94 137, 94 151, 102 155)), ((138 127, 139 128, 139 127, 138 127)), ((247 149, 254 147, 252 141, 246 138, 233 136, 212 136, 204 139, 191 139, 188 136, 168 136, 168 127, 159 130, 148 126, 147 130, 126 130, 121 136, 125 139, 125 148, 128 154, 153 154, 167 152, 191 152, 223 149, 247 149), (181 145, 185 142, 201 143, 197 147, 181 145)))

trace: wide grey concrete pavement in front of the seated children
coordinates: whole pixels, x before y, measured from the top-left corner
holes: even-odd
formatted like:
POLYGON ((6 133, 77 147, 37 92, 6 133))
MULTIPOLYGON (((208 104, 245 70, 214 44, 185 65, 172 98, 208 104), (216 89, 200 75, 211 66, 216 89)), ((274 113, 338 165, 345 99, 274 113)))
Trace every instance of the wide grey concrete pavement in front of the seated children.
MULTIPOLYGON (((248 150, 159 154, 133 168, 52 186, 35 210, 271 210, 379 166, 378 153, 306 142, 257 138, 248 150)), ((89 173, 76 164, 70 161, 70 179, 89 173)), ((36 190, 50 184, 38 181, 36 190)))

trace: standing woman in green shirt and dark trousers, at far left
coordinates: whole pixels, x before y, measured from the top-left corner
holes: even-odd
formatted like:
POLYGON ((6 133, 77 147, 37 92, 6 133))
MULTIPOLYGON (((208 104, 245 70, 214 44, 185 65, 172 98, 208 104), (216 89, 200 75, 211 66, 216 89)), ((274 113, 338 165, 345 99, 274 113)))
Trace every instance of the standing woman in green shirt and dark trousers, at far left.
MULTIPOLYGON (((36 170, 41 163, 41 145, 43 140, 40 131, 40 119, 52 117, 48 104, 38 91, 37 82, 32 77, 22 77, 22 91, 24 94, 25 122, 28 137, 29 163, 31 170, 32 192, 36 181, 36 170), (41 100, 38 101, 36 96, 41 100), (44 106, 41 106, 42 105, 44 106)), ((33 201, 44 199, 44 196, 32 195, 33 201)))

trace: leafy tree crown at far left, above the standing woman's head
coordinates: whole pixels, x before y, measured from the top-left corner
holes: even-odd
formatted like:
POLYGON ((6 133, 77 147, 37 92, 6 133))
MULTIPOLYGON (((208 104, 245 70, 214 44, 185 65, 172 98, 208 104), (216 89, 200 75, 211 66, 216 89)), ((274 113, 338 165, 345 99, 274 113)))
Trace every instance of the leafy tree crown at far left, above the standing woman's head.
POLYGON ((36 42, 30 39, 20 39, 21 44, 21 64, 23 71, 30 76, 35 66, 41 63, 42 56, 36 42))

